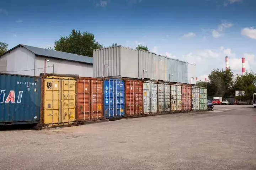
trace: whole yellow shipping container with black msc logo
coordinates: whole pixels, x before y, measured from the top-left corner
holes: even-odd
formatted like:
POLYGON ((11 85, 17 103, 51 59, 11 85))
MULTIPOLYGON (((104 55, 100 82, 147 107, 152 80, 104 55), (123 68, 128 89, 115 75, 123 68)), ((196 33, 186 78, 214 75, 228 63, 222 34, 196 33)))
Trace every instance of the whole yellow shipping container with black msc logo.
POLYGON ((58 126, 76 122, 76 76, 47 74, 42 76, 44 126, 58 126))

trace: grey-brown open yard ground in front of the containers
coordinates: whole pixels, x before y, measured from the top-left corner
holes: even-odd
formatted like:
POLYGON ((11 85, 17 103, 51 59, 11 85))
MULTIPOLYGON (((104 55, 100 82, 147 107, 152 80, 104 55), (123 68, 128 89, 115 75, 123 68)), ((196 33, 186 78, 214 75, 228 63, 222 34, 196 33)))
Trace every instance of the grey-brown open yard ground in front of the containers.
POLYGON ((0 170, 255 170, 256 109, 0 131, 0 170))

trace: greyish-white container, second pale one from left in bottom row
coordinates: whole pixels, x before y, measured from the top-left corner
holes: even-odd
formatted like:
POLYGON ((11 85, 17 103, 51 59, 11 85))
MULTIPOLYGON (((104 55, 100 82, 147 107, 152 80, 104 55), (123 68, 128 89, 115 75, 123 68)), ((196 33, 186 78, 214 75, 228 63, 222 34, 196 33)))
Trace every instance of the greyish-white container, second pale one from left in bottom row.
POLYGON ((158 111, 171 111, 170 85, 158 84, 158 111))

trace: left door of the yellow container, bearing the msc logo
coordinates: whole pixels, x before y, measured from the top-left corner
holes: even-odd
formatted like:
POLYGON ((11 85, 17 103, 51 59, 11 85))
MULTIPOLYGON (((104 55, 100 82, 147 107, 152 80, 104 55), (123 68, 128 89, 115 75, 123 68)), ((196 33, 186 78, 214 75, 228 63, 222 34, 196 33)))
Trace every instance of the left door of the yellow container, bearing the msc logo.
POLYGON ((44 79, 44 124, 59 124, 61 80, 53 78, 44 79))

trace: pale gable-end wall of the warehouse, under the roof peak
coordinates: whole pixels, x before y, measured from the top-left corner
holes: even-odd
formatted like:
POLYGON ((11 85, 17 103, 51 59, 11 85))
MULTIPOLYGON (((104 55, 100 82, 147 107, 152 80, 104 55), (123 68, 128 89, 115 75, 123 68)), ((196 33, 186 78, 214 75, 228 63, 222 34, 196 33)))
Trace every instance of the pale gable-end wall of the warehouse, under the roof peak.
POLYGON ((0 72, 34 76, 34 53, 18 47, 1 56, 0 66, 0 72))

